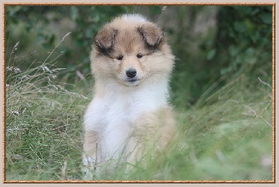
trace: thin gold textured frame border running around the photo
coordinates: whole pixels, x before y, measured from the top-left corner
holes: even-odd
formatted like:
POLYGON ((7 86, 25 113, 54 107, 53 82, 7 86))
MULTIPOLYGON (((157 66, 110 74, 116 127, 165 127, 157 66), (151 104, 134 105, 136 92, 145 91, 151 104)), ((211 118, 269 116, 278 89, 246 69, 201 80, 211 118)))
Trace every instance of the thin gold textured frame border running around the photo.
POLYGON ((275 58, 276 58, 276 3, 3 3, 3 184, 17 184, 17 183, 25 183, 25 184, 275 184, 276 183, 276 127, 275 127, 275 115, 276 115, 276 72, 275 72, 275 58), (261 180, 115 180, 115 181, 35 181, 35 180, 22 180, 22 181, 6 181, 5 174, 5 140, 6 140, 6 129, 5 129, 5 6, 272 6, 272 179, 261 181, 261 180))

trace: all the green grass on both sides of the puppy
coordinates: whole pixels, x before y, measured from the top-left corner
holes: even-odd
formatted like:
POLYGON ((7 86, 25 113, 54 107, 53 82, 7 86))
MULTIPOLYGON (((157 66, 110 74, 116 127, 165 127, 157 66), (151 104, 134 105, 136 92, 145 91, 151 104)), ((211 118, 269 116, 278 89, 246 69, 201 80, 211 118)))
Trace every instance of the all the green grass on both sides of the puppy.
MULTIPOLYGON (((16 47, 6 70, 6 181, 82 180, 82 116, 91 87, 56 80, 63 70, 54 67, 54 53, 17 69, 16 47)), ((249 75, 227 80, 190 109, 174 107, 179 140, 146 169, 127 174, 119 166, 96 179, 271 180, 270 83, 249 75)))

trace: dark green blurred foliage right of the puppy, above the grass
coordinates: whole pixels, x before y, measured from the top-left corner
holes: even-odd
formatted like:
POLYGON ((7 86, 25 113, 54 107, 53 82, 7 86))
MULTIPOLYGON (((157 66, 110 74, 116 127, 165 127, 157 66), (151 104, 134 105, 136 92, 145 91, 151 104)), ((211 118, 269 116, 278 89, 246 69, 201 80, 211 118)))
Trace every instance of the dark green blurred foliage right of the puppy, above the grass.
POLYGON ((225 80, 235 79, 243 72, 271 83, 271 6, 188 6, 176 12, 179 29, 172 33, 177 58, 172 100, 176 106, 190 107, 204 92, 214 92, 225 80), (195 23, 206 24, 198 22, 198 15, 206 16, 206 11, 214 8, 216 27, 205 37, 193 35, 195 23), (187 18, 190 24, 185 24, 187 18))

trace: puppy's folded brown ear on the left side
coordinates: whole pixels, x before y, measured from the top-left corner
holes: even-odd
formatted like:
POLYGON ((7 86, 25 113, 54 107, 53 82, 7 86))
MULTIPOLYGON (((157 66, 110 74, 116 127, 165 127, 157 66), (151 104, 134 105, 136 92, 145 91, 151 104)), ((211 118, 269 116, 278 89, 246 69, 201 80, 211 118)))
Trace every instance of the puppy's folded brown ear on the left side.
POLYGON ((117 30, 110 26, 104 26, 95 37, 95 44, 101 51, 112 48, 117 30))

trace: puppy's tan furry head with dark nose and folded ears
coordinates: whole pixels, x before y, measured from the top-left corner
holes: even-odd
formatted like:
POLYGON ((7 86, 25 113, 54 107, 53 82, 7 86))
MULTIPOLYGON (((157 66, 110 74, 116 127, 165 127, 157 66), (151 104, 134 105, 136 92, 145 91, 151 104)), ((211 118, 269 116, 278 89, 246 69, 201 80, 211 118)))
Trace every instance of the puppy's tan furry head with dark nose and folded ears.
POLYGON ((117 18, 100 29, 91 52, 96 79, 112 79, 125 86, 163 79, 172 65, 165 34, 151 22, 117 18))

